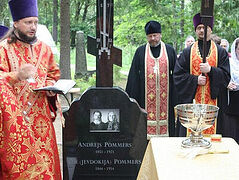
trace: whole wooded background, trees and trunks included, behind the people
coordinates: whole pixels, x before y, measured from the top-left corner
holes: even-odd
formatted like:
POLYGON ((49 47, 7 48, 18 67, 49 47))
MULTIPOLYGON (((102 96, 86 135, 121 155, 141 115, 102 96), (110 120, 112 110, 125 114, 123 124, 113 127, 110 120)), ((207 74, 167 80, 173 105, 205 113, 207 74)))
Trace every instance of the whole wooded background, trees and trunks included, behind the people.
MULTIPOLYGON (((61 78, 74 79, 76 32, 83 31, 85 41, 87 35, 95 37, 96 0, 38 0, 38 8, 39 24, 47 26, 60 51, 57 61, 61 78)), ((122 68, 114 66, 114 86, 125 88, 134 52, 146 43, 146 22, 159 21, 162 40, 179 53, 184 48, 185 38, 188 35, 195 37, 192 18, 200 8, 201 0, 114 0, 114 46, 121 48, 123 53, 122 68)), ((237 0, 214 1, 213 33, 227 39, 230 44, 239 36, 238 12, 237 0)), ((1 0, 0 24, 11 26, 11 21, 8 0, 1 0)), ((95 69, 95 57, 89 54, 87 66, 90 70, 95 69)), ((76 81, 84 91, 95 86, 95 75, 76 81)))

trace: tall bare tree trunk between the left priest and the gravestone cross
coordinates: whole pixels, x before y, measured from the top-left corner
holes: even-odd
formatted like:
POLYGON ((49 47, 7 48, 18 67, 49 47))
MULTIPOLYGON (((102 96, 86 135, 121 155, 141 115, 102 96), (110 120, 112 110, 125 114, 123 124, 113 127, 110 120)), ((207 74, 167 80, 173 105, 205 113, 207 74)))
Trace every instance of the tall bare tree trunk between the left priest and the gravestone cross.
POLYGON ((70 0, 61 0, 60 69, 62 79, 71 79, 70 68, 70 0))

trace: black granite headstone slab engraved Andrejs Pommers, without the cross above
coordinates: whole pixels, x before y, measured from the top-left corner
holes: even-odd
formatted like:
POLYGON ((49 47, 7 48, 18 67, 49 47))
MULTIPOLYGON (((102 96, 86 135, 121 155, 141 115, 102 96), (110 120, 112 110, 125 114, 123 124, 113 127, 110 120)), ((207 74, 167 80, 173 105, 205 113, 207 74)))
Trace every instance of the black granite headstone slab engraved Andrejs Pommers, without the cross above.
POLYGON ((64 179, 136 179, 147 144, 146 112, 136 101, 120 88, 95 87, 67 114, 64 179))

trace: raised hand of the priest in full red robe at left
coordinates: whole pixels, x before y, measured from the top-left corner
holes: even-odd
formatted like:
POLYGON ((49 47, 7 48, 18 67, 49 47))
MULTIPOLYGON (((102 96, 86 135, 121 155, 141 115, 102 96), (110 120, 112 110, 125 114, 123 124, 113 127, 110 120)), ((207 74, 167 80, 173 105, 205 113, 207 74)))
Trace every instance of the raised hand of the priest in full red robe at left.
POLYGON ((29 78, 32 78, 36 73, 36 67, 32 64, 23 64, 20 69, 17 71, 17 78, 22 81, 29 78))

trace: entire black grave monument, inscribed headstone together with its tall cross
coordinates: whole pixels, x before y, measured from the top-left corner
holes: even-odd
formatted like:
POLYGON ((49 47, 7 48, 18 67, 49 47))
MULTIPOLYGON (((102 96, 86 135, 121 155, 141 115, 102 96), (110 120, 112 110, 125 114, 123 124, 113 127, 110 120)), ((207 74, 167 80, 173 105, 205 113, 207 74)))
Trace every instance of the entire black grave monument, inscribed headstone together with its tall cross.
POLYGON ((64 179, 135 180, 147 144, 146 112, 113 87, 113 65, 122 52, 113 46, 113 0, 96 0, 96 86, 64 112, 64 179))

